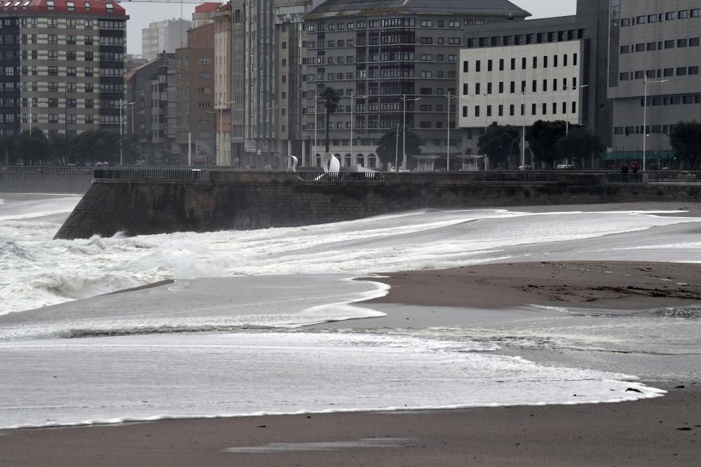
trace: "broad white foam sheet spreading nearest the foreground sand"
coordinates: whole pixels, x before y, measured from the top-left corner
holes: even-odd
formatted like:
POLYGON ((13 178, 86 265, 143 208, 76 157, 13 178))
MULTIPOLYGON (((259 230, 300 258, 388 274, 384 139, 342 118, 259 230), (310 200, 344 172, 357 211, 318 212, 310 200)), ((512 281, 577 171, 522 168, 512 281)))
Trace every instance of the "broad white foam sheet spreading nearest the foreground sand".
POLYGON ((2 428, 621 402, 664 393, 626 375, 482 354, 482 345, 489 344, 318 333, 5 342, 4 381, 22 391, 0 391, 2 428))

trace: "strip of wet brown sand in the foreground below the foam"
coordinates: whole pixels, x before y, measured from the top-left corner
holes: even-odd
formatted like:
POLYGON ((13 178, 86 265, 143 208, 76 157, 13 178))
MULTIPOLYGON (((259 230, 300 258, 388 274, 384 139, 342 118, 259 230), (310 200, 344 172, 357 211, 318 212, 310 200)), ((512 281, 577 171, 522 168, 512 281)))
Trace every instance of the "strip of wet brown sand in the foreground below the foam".
POLYGON ((622 403, 1 431, 0 451, 11 466, 691 466, 701 442, 701 386, 677 386, 622 403))

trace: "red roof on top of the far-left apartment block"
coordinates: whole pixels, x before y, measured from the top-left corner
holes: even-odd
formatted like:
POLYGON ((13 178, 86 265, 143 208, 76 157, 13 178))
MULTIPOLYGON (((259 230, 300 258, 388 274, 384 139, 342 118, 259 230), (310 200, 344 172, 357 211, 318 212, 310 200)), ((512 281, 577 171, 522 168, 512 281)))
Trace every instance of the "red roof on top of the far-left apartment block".
POLYGON ((0 13, 5 12, 126 16, 124 8, 111 0, 0 0, 0 13), (50 9, 52 4, 53 9, 50 9), (108 5, 111 8, 108 9, 108 5))

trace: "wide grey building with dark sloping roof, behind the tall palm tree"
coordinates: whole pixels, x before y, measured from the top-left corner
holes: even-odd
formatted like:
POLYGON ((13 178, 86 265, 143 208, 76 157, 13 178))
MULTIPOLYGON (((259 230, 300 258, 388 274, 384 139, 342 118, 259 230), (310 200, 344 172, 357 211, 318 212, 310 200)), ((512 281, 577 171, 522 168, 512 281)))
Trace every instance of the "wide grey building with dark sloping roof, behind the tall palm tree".
MULTIPOLYGON (((505 0, 388 0, 381 7, 367 0, 320 4, 305 21, 301 99, 307 144, 302 164, 320 165, 325 152, 325 108, 315 100, 326 87, 340 97, 329 122, 329 143, 343 167, 379 166, 378 140, 404 123, 423 140, 423 159, 464 152, 457 131, 446 145, 448 127, 454 129, 456 123, 456 72, 465 32, 480 23, 516 24, 528 15, 505 0)), ((409 167, 417 164, 416 158, 408 162, 409 167)))

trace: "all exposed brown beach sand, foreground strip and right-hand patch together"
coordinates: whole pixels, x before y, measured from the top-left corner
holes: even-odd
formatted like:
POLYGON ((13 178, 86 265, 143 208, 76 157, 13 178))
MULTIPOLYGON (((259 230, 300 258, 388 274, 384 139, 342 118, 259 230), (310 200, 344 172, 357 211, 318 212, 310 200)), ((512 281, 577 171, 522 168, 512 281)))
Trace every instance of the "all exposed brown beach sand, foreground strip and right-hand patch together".
MULTIPOLYGON (((513 309, 522 305, 635 314, 701 304, 696 264, 505 263, 383 275, 387 277, 373 280, 386 281, 392 288, 374 304, 390 316, 328 326, 395 326, 400 320, 411 321, 409 316, 422 319, 421 326, 438 326, 441 319, 469 325, 470 320, 484 321, 485 315, 517 313, 513 309), (420 316, 430 307, 452 311, 442 318, 420 316), (403 308, 413 311, 402 314, 403 308), (479 312, 461 314, 462 308, 479 312)), ((532 356, 544 355, 552 352, 532 356)), ((8 466, 698 465, 699 356, 675 357, 674 365, 688 370, 685 379, 651 377, 656 365, 667 364, 662 356, 656 358, 639 356, 639 364, 649 362, 646 384, 667 390, 667 395, 632 403, 2 431, 0 453, 8 466)), ((613 360, 618 363, 625 362, 613 360)))

